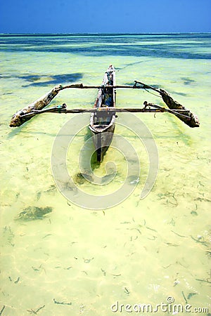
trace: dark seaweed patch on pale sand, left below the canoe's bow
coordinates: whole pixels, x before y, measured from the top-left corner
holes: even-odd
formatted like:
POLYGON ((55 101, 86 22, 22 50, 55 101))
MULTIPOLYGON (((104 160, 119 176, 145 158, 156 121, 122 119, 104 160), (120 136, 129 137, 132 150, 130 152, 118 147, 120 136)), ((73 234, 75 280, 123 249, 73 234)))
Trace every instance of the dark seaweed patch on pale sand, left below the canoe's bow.
POLYGON ((24 209, 20 214, 15 218, 15 220, 41 220, 46 214, 51 213, 51 206, 46 207, 37 207, 37 206, 29 206, 24 209))

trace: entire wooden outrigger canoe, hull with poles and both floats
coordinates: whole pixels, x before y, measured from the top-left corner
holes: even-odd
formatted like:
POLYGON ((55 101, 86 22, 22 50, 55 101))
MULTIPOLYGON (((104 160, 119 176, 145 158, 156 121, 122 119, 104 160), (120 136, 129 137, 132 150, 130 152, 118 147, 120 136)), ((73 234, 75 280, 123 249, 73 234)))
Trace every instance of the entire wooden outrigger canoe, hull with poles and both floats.
POLYGON ((190 127, 198 127, 200 125, 198 117, 193 114, 190 110, 187 110, 184 105, 179 104, 175 101, 167 91, 163 89, 154 88, 143 84, 140 81, 134 81, 133 86, 118 86, 115 81, 115 68, 110 65, 103 77, 103 83, 101 86, 84 86, 83 84, 71 84, 67 86, 58 85, 51 91, 46 93, 44 96, 34 101, 32 104, 25 107, 23 110, 19 110, 11 119, 10 126, 20 126, 26 121, 30 120, 37 114, 43 113, 91 113, 89 129, 92 133, 94 146, 96 148, 97 160, 102 162, 103 155, 108 150, 108 147, 113 139, 113 133, 115 131, 115 117, 117 112, 168 112, 174 114, 176 117, 184 121, 190 127), (68 109, 65 103, 56 107, 49 107, 42 110, 46 105, 49 105, 51 100, 62 90, 66 88, 98 88, 98 97, 94 103, 92 109, 68 109), (145 101, 142 108, 118 108, 116 107, 116 89, 117 88, 132 88, 132 89, 151 89, 156 91, 162 97, 162 100, 167 107, 161 107, 153 103, 145 101))

